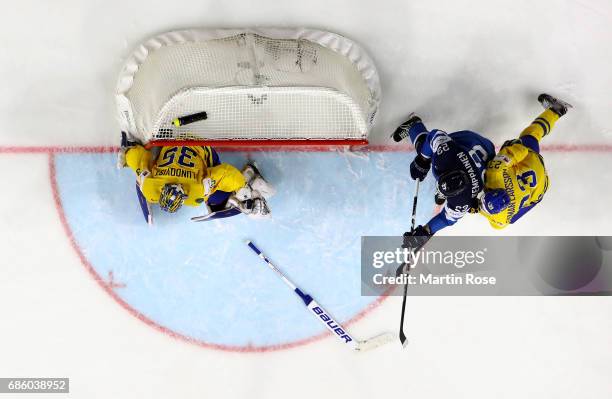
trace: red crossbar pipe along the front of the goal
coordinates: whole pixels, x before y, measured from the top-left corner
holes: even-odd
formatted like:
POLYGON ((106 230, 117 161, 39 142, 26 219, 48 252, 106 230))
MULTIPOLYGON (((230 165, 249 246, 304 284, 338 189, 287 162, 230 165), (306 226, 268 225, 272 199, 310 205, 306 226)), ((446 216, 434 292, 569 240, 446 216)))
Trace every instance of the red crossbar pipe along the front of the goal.
POLYGON ((366 139, 331 140, 152 140, 145 148, 165 146, 211 146, 211 147, 346 147, 367 146, 366 139))

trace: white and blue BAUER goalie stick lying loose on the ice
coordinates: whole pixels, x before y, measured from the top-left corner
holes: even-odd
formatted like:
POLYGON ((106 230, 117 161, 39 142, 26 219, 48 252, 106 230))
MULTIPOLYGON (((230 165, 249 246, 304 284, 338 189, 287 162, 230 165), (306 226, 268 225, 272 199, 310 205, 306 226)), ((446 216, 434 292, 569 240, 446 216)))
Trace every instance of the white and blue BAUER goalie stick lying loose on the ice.
POLYGON ((312 299, 310 295, 304 293, 302 290, 296 287, 295 284, 293 284, 287 278, 287 276, 283 274, 283 272, 277 269, 276 266, 274 266, 272 262, 270 262, 270 260, 266 258, 266 256, 259 250, 259 248, 255 246, 255 244, 253 244, 251 241, 247 241, 246 243, 249 248, 251 248, 253 252, 255 252, 261 259, 263 259, 263 261, 266 262, 268 267, 272 269, 281 278, 281 280, 283 280, 283 282, 287 284, 293 290, 293 292, 297 294, 297 296, 300 297, 300 299, 304 302, 304 305, 306 305, 308 310, 312 312, 312 314, 317 318, 317 320, 325 324, 327 329, 330 330, 336 337, 338 337, 338 339, 340 339, 343 344, 356 351, 366 351, 391 342, 391 340, 393 339, 393 335, 391 333, 383 333, 364 341, 355 340, 346 331, 346 329, 344 329, 344 327, 340 325, 340 323, 338 323, 332 318, 329 312, 323 309, 323 307, 319 305, 314 299, 312 299))

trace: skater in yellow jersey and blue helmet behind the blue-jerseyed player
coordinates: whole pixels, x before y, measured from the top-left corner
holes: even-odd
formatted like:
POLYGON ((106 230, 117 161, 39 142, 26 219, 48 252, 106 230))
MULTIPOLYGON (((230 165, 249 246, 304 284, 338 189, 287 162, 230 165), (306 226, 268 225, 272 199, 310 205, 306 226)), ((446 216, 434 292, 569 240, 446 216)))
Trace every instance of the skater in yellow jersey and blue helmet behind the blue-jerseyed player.
POLYGON ((540 140, 550 133, 571 105, 549 94, 540 94, 538 101, 545 111, 518 139, 506 141, 487 164, 479 211, 497 229, 516 222, 542 200, 548 189, 540 140))

